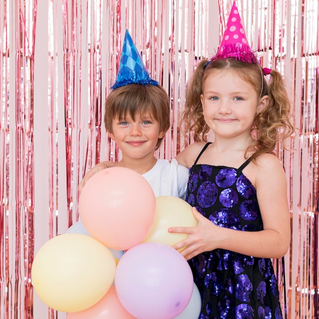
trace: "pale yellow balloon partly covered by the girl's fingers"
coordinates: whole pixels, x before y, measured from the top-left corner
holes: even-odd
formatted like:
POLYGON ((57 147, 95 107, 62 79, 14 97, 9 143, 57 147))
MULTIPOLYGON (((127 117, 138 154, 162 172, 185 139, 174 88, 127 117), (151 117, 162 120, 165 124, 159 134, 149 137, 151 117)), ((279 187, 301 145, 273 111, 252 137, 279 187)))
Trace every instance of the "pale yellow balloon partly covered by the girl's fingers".
POLYGON ((187 234, 170 233, 168 228, 197 226, 197 220, 192 213, 192 206, 175 196, 158 196, 155 200, 155 222, 144 242, 173 246, 187 238, 187 234))

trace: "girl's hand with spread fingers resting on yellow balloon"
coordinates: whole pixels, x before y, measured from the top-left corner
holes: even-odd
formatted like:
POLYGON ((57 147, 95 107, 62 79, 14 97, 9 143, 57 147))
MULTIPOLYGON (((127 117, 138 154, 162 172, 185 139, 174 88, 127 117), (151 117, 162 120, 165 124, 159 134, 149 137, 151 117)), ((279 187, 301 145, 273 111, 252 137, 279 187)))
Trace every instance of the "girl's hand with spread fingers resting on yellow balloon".
POLYGON ((170 227, 169 232, 188 234, 188 238, 176 243, 172 247, 176 250, 185 247, 180 253, 186 260, 204 252, 218 248, 214 238, 221 227, 216 226, 210 220, 202 216, 195 207, 192 208, 193 215, 198 221, 195 227, 170 227))

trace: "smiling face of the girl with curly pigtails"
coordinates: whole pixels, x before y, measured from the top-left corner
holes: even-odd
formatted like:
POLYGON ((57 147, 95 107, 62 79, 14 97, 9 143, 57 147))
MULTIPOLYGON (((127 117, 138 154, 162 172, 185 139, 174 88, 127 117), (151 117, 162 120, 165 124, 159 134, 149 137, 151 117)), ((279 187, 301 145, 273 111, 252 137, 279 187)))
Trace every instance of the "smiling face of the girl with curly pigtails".
POLYGON ((214 70, 203 83, 201 102, 206 124, 215 137, 250 138, 258 108, 257 92, 231 70, 214 70))

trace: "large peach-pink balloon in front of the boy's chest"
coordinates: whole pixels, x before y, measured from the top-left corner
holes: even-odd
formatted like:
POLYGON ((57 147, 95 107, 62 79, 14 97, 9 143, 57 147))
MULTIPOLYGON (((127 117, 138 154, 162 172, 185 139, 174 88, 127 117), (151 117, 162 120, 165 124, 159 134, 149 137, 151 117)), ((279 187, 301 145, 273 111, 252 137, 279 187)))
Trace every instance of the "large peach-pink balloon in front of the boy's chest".
POLYGON ((94 174, 78 201, 88 232, 105 246, 127 250, 143 242, 155 219, 155 195, 139 173, 111 167, 94 174))

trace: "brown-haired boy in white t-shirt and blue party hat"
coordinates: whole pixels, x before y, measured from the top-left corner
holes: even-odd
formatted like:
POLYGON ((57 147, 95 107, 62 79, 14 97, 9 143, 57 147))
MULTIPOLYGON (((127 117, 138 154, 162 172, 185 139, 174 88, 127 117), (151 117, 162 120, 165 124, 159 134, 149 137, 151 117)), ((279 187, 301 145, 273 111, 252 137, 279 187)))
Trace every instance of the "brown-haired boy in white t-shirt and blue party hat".
POLYGON ((164 88, 150 78, 127 30, 117 80, 112 89, 105 101, 104 125, 122 151, 122 159, 94 166, 79 183, 79 192, 94 173, 120 166, 142 174, 156 197, 184 199, 188 169, 178 165, 175 159, 170 162, 154 156, 170 127, 169 97, 164 88))

